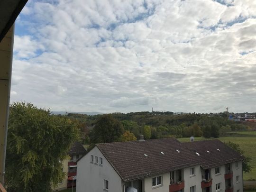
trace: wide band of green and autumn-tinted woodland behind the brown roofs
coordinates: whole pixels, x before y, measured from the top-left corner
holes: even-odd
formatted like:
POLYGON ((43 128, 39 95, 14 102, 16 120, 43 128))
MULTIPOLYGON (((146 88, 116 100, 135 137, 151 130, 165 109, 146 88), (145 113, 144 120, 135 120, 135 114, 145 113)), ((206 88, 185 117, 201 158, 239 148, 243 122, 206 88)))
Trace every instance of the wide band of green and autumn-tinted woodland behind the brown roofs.
POLYGON ((84 143, 106 142, 106 140, 95 140, 101 134, 119 132, 119 138, 107 140, 108 142, 124 141, 136 139, 137 135, 143 134, 148 139, 166 137, 219 137, 221 132, 241 131, 249 129, 248 126, 238 122, 230 121, 226 117, 212 116, 208 114, 187 114, 173 115, 172 112, 134 112, 134 113, 112 113, 108 115, 88 116, 83 114, 67 115, 71 119, 76 119, 81 123, 82 139, 84 143), (104 119, 104 120, 103 120, 104 119), (111 123, 106 126, 106 122, 118 122, 120 129, 111 128, 111 123), (114 119, 114 121, 113 121, 114 119), (99 125, 99 121, 101 125, 99 125), (105 122, 105 123, 104 123, 105 122), (97 131, 99 127, 104 127, 103 132, 97 131), (107 129, 109 129, 107 131, 107 129), (118 130, 118 131, 117 131, 118 130), (110 131, 110 132, 109 132, 110 131), (125 135, 126 137, 125 137, 125 135), (129 137, 129 138, 127 138, 129 137))

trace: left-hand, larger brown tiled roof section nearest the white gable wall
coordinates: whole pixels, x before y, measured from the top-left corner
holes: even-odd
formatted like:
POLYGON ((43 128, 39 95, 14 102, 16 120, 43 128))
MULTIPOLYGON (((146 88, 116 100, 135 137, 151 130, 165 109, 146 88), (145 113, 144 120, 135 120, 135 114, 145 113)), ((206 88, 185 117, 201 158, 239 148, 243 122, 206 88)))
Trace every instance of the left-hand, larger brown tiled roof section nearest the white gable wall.
POLYGON ((105 143, 96 146, 125 182, 200 163, 198 156, 175 138, 105 143))

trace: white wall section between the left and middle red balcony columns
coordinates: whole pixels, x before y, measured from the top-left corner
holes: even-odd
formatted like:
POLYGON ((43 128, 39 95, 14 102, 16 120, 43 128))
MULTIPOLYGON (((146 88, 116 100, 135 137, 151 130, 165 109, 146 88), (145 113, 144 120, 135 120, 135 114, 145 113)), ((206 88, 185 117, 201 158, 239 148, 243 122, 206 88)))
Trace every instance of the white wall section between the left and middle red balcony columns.
POLYGON ((190 187, 196 186, 196 192, 201 192, 201 167, 199 165, 193 166, 195 167, 195 175, 190 176, 190 168, 187 167, 184 168, 183 173, 184 173, 184 182, 185 182, 185 187, 184 187, 184 192, 190 192, 190 187))

